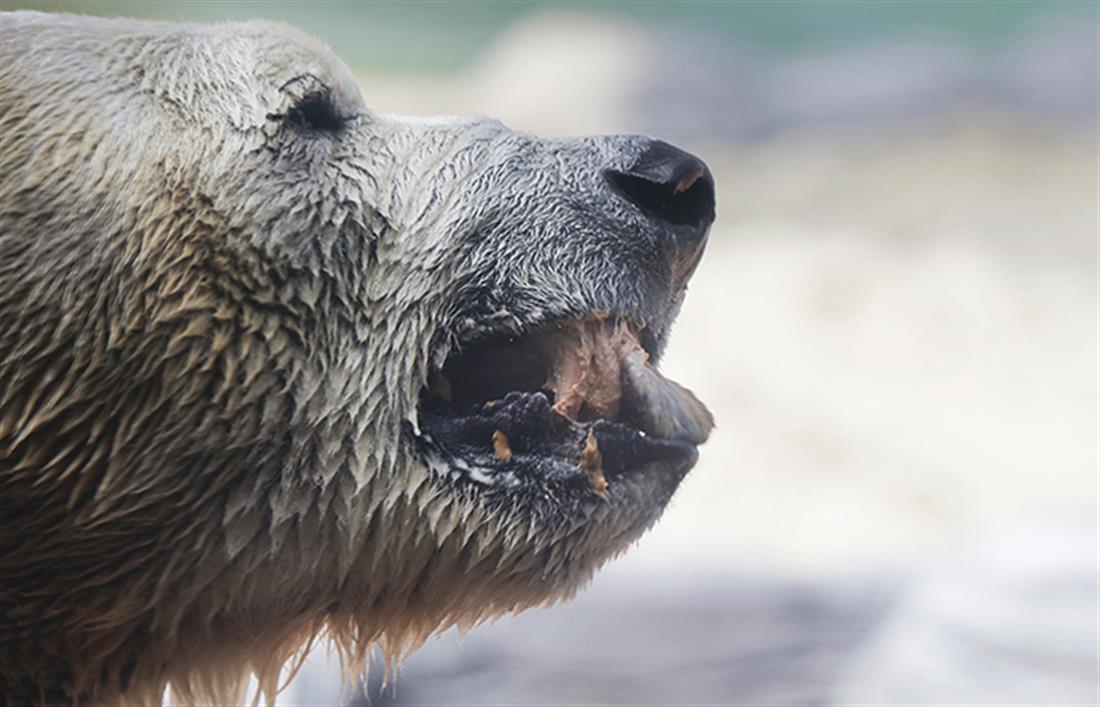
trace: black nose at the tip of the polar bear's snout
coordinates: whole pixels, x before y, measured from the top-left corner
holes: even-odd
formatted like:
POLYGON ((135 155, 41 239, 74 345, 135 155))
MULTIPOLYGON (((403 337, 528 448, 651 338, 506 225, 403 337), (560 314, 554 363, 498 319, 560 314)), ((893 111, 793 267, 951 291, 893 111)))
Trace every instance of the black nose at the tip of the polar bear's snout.
POLYGON ((714 221, 714 177, 690 153, 654 140, 626 172, 608 169, 616 191, 651 216, 676 225, 714 221))

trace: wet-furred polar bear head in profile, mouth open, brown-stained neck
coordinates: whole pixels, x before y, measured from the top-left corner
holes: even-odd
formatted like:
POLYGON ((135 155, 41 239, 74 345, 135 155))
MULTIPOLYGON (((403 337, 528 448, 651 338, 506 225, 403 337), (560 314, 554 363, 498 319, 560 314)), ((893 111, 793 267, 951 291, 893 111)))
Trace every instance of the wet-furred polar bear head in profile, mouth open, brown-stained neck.
POLYGON ((13 12, 0 692, 268 698, 572 595, 712 420, 656 367, 698 158, 369 109, 315 40, 13 12))

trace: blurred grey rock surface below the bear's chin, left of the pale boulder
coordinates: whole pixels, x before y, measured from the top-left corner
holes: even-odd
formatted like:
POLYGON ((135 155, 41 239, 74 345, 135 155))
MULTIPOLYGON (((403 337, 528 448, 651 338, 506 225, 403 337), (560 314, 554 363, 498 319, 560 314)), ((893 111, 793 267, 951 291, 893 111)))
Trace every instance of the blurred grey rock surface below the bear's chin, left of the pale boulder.
MULTIPOLYGON (((375 665, 351 704, 822 704, 892 594, 868 577, 607 572, 566 606, 429 641, 387 687, 375 665)), ((299 678, 288 704, 326 704, 333 685, 299 678)))

